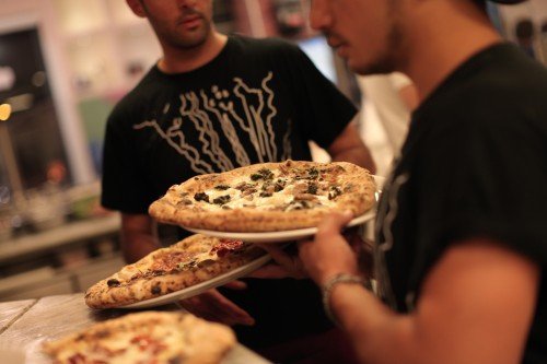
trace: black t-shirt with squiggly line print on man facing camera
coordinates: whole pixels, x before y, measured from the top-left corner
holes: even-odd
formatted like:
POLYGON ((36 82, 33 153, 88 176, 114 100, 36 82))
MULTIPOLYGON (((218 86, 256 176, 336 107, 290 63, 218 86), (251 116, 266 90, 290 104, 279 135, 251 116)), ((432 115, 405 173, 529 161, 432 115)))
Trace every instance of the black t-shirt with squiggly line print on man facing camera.
MULTIPOLYGON (((112 113, 106 129, 104 207, 147 213, 168 187, 203 173, 259 162, 310 160, 357 110, 294 45, 229 37, 220 55, 186 73, 152 68, 112 113)), ((248 280, 225 294, 255 318, 236 327, 258 348, 329 327, 307 280, 248 280)))

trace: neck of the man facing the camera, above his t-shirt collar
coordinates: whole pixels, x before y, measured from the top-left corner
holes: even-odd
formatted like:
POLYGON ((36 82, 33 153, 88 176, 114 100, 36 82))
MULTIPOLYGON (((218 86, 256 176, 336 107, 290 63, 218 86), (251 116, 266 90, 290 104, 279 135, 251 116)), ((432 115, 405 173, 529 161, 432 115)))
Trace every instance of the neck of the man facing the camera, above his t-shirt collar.
POLYGON ((189 72, 200 68, 213 60, 224 48, 228 37, 216 31, 207 40, 195 48, 181 49, 174 47, 163 47, 163 58, 158 62, 158 67, 165 73, 189 72))

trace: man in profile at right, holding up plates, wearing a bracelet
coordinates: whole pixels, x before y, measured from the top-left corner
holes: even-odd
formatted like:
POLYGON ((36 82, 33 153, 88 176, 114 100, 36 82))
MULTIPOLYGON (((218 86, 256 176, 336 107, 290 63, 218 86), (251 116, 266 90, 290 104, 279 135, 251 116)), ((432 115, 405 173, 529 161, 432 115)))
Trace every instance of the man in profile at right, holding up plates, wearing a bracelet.
POLYGON ((547 70, 484 1, 314 0, 311 19, 354 71, 401 71, 421 98, 379 206, 381 300, 350 215, 299 244, 326 312, 363 363, 547 363, 547 70))

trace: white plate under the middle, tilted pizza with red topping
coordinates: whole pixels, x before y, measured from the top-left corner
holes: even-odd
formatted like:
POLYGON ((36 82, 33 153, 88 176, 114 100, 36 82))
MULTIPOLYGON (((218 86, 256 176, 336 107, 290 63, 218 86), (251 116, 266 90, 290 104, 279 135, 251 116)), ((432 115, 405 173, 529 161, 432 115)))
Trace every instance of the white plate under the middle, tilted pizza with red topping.
POLYGON ((177 302, 179 300, 184 298, 189 298, 195 295, 198 295, 200 293, 203 293, 207 290, 214 289, 219 285, 226 284, 228 282, 231 282, 233 280, 236 280, 241 277, 247 275, 252 271, 260 268, 265 263, 267 263, 271 257, 269 255, 266 255, 264 257, 260 257, 258 259, 253 260, 252 262, 242 266, 240 268, 236 268, 228 273, 224 273, 222 275, 216 277, 209 281, 198 283, 196 285, 189 286, 187 289, 172 292, 168 294, 165 294, 160 297, 154 297, 141 302, 137 302, 127 306, 121 306, 117 308, 148 308, 148 307, 155 307, 155 306, 161 306, 165 305, 168 303, 177 302))

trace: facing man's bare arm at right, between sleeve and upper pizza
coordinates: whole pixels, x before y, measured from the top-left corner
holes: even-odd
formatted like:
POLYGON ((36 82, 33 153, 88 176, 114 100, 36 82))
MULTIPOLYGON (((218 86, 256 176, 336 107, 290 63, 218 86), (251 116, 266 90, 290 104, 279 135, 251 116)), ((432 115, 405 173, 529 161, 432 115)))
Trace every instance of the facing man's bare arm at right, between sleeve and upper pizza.
POLYGON ((333 161, 351 162, 369 169, 372 174, 376 173, 376 165, 372 160, 371 152, 359 136, 354 121, 348 124, 327 151, 333 161))

